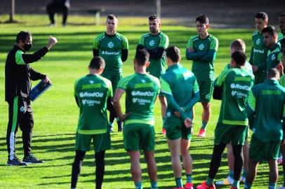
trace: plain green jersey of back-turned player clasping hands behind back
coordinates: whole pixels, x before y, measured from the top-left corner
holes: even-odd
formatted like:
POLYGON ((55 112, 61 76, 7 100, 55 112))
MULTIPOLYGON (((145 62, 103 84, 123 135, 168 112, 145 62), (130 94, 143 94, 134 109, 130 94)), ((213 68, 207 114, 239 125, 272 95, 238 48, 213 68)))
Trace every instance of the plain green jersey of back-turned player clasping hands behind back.
MULTIPOLYGON (((183 68, 181 64, 174 64, 168 67, 166 73, 161 76, 161 92, 166 94, 167 102, 168 95, 173 97, 174 102, 182 107, 185 111, 183 119, 192 118, 192 106, 199 100, 199 85, 194 73, 183 68), (197 96, 194 99, 194 96, 197 96)), ((181 119, 174 115, 176 110, 173 109, 173 104, 167 104, 166 119, 171 119, 171 122, 180 122, 181 119)))

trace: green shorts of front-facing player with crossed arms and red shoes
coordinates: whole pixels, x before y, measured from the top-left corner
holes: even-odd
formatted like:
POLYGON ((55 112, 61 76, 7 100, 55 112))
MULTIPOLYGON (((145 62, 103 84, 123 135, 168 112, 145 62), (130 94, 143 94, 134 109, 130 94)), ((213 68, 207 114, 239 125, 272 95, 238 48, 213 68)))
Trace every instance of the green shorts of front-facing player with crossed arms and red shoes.
POLYGON ((213 80, 198 80, 200 102, 208 103, 213 94, 213 80))

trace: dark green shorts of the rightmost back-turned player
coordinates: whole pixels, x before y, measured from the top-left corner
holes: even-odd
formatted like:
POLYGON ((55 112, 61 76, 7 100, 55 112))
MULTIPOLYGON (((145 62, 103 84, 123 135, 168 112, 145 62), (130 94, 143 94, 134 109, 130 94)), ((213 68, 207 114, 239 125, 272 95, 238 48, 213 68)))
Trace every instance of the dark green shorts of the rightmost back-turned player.
POLYGON ((249 146, 249 158, 255 162, 277 160, 280 144, 281 141, 260 141, 253 134, 251 137, 251 145, 249 146))

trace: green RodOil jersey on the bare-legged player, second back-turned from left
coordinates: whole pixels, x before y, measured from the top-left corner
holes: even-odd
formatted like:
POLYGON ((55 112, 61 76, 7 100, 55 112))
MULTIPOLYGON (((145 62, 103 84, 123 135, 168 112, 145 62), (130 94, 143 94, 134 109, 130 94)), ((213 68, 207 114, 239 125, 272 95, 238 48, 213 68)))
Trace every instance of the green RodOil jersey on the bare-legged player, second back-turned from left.
POLYGON ((134 73, 119 81, 118 89, 126 92, 125 123, 147 123, 154 125, 153 107, 160 90, 158 78, 150 74, 134 73))

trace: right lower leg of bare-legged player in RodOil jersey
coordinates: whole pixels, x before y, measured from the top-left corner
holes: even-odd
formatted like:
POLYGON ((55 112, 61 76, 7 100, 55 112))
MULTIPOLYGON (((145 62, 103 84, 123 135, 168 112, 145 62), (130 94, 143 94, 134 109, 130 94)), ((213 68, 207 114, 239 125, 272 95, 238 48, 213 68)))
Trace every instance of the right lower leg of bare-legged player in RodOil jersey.
POLYGON ((144 151, 145 162, 147 162, 147 174, 150 177, 152 189, 157 189, 157 164, 154 159, 154 151, 144 151))

